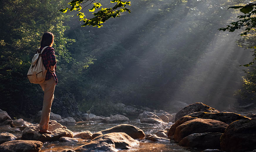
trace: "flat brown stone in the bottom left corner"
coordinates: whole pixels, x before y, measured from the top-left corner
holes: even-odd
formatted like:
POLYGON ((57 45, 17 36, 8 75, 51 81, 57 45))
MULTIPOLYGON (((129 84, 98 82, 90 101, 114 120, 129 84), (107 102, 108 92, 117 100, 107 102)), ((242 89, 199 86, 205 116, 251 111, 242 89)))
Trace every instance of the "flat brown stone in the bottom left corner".
POLYGON ((2 152, 39 152, 43 143, 33 140, 12 140, 0 145, 2 152))

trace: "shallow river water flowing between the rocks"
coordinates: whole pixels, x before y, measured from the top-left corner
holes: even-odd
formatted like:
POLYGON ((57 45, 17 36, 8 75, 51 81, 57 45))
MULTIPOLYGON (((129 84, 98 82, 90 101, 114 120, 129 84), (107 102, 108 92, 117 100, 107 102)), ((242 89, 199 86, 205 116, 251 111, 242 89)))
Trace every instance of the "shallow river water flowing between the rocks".
MULTIPOLYGON (((119 125, 122 123, 100 123, 100 122, 78 122, 75 126, 66 126, 70 129, 74 135, 79 132, 89 130, 92 133, 108 129, 119 125)), ((141 123, 139 120, 131 120, 128 124, 139 127, 144 131, 145 134, 154 134, 159 130, 169 129, 172 123, 168 124, 148 124, 141 123)), ((8 131, 6 129, 0 128, 0 132, 10 132, 16 136, 21 136, 21 131, 8 131), (5 131, 4 131, 5 130, 5 131)), ((178 146, 177 143, 173 140, 171 141, 149 141, 146 139, 139 140, 140 144, 128 150, 120 150, 119 152, 200 152, 201 150, 197 148, 185 148, 178 146)), ((78 146, 86 144, 86 140, 80 142, 45 142, 40 152, 58 152, 62 149, 75 149, 78 146)))

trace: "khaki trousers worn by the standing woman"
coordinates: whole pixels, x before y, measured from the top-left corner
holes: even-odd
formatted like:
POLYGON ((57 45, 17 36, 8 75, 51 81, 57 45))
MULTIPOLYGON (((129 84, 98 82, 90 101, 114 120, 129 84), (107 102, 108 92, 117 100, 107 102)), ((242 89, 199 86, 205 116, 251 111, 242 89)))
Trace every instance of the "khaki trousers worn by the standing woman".
POLYGON ((50 80, 46 80, 40 84, 44 91, 43 95, 43 109, 41 115, 41 121, 39 123, 39 129, 42 131, 48 130, 48 123, 50 120, 51 106, 54 99, 55 80, 51 77, 50 80))

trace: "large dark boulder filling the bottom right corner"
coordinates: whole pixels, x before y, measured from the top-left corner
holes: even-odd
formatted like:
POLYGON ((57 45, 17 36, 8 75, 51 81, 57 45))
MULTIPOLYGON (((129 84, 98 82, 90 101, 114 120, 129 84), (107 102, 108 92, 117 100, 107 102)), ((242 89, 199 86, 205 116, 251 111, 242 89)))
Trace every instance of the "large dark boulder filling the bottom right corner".
POLYGON ((256 149, 256 119, 231 123, 220 138, 224 151, 252 151, 256 149))

